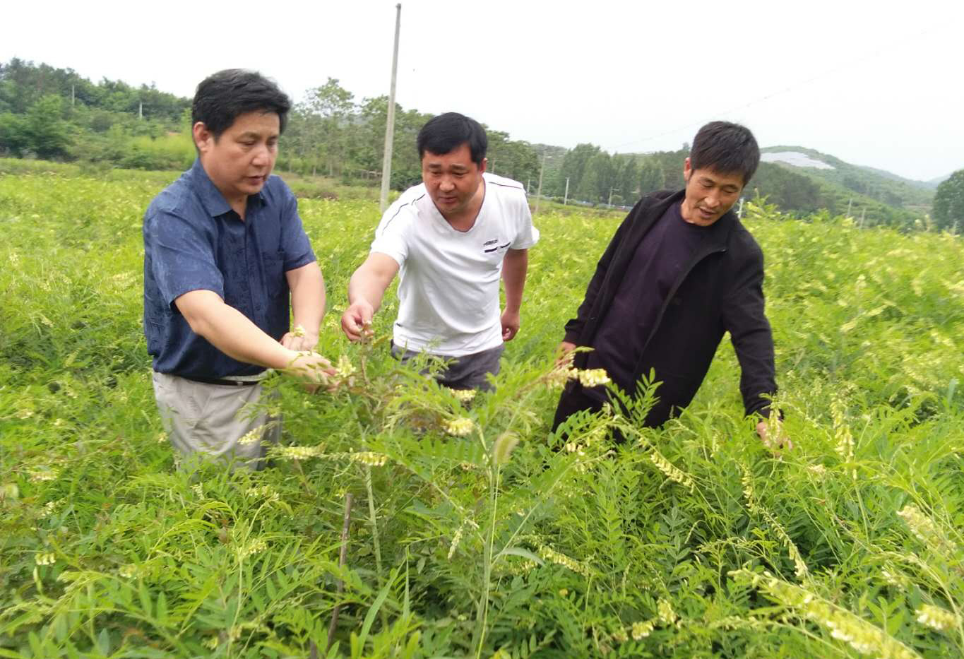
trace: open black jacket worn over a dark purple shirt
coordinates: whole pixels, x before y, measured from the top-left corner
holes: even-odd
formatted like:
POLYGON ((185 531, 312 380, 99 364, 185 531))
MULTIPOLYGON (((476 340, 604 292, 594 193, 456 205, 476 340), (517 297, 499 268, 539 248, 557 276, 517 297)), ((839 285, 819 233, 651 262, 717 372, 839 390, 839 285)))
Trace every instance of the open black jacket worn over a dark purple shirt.
MULTIPOLYGON (((682 200, 683 191, 653 193, 629 211, 596 266, 576 318, 566 324, 567 341, 593 345, 640 241, 672 204, 682 200)), ((634 380, 653 369, 656 381, 662 382, 646 425, 658 426, 674 409, 689 405, 726 331, 739 359, 739 389, 746 413, 767 415, 768 401, 762 394, 775 393, 776 381, 773 336, 763 313, 763 251, 733 211, 708 227, 645 339, 634 380)), ((585 353, 576 356, 576 367, 584 367, 585 362, 585 353)))

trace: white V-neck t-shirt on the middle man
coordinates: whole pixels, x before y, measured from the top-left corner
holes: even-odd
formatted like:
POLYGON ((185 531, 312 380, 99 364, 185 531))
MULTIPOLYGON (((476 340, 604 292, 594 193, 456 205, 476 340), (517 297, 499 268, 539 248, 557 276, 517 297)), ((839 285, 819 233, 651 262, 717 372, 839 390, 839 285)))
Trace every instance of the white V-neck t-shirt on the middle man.
POLYGON ((485 198, 475 224, 457 231, 424 183, 392 203, 371 250, 398 262, 395 345, 465 356, 502 343, 498 282, 506 252, 539 240, 522 184, 485 172, 485 198))

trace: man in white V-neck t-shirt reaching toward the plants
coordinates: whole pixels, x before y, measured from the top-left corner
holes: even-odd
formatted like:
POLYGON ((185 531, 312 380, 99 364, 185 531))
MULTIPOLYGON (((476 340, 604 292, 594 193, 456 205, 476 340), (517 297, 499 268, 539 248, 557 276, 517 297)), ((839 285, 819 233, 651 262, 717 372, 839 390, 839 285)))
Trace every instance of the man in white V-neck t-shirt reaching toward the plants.
POLYGON ((422 127, 416 144, 422 183, 382 217, 368 258, 348 283, 341 329, 352 341, 369 334, 398 274, 392 354, 440 356, 447 362, 442 384, 488 389, 503 342, 519 331, 528 249, 539 231, 522 184, 485 171, 488 140, 477 121, 440 115, 422 127))

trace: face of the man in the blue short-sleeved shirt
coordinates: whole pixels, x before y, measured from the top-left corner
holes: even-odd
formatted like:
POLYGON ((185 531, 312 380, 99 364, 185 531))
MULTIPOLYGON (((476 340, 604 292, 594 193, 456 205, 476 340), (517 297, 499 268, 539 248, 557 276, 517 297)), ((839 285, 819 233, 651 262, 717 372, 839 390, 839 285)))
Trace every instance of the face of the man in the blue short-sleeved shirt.
POLYGON ((200 121, 194 126, 201 165, 228 202, 261 192, 278 157, 281 119, 275 112, 248 112, 218 139, 200 121))

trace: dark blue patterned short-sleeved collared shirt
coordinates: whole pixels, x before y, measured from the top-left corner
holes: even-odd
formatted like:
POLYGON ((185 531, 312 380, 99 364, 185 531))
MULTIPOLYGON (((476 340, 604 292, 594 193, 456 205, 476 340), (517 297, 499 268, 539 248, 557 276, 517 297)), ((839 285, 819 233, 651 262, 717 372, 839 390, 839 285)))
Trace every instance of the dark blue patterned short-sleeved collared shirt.
POLYGON ((280 340, 290 325, 284 274, 314 260, 298 202, 281 178, 269 177, 248 198, 242 221, 196 160, 144 216, 144 333, 154 370, 189 378, 263 371, 196 334, 174 300, 213 291, 280 340))

